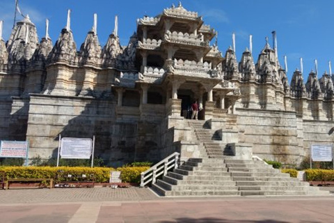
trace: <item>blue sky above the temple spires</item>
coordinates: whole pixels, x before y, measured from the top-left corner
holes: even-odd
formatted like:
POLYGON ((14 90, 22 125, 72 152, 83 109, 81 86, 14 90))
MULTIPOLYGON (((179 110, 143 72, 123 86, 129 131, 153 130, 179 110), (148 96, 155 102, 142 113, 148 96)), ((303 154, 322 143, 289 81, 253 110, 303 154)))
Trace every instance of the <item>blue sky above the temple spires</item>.
MULTIPOLYGON (((50 20, 49 36, 54 43, 65 27, 67 9, 71 9, 71 29, 79 48, 93 26, 93 13, 97 13, 97 34, 102 47, 113 31, 115 15, 118 15, 121 43, 127 45, 129 37, 136 31, 137 18, 158 15, 172 3, 176 6, 178 1, 20 0, 19 6, 22 13, 29 14, 37 26, 40 38, 45 36, 45 18, 50 20)), ((8 40, 13 26, 15 0, 0 0, 0 6, 0 20, 4 20, 3 38, 8 40)), ((223 54, 232 45, 231 36, 235 32, 238 61, 248 47, 249 34, 253 35, 253 56, 257 61, 265 37, 268 36, 269 43, 272 43, 271 31, 275 30, 278 56, 283 67, 283 55, 287 55, 289 80, 294 70, 299 68, 300 57, 304 61, 304 77, 315 68, 315 59, 320 76, 325 70, 328 72, 329 60, 334 64, 332 0, 184 0, 182 6, 198 12, 205 24, 210 24, 218 31, 218 47, 223 54)))

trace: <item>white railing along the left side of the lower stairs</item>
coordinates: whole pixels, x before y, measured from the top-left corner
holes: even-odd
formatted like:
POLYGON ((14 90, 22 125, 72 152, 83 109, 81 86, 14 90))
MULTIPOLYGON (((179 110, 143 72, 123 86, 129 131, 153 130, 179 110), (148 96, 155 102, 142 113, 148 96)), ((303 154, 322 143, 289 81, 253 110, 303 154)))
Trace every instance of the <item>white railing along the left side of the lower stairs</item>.
POLYGON ((180 153, 173 153, 169 155, 164 160, 161 160, 153 167, 148 169, 145 172, 141 173, 141 187, 145 187, 148 183, 152 182, 155 183, 157 181, 157 177, 167 175, 170 169, 175 169, 178 167, 178 163, 180 160, 180 153))

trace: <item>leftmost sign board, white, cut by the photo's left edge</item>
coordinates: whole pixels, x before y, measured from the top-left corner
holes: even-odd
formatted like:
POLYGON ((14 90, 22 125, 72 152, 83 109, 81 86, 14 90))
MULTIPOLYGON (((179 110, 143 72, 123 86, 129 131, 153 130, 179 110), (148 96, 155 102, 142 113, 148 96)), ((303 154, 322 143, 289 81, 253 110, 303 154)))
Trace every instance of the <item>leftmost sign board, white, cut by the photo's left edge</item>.
POLYGON ((28 141, 1 141, 0 157, 26 157, 28 141))

